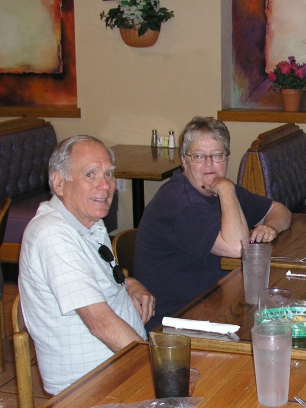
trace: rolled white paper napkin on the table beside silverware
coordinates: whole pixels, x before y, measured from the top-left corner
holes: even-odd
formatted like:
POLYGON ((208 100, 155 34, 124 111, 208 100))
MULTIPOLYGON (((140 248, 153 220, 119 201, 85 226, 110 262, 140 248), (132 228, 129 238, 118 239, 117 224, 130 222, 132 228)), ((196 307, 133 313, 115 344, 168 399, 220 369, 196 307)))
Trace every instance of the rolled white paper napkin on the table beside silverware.
POLYGON ((190 330, 203 330, 212 331, 213 333, 236 333, 240 329, 240 326, 236 324, 226 323, 212 323, 208 320, 190 320, 190 319, 178 319, 175 317, 164 317, 162 320, 163 326, 175 327, 175 328, 187 328, 190 330))

